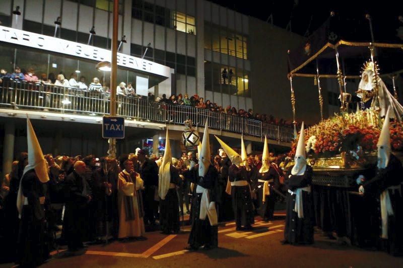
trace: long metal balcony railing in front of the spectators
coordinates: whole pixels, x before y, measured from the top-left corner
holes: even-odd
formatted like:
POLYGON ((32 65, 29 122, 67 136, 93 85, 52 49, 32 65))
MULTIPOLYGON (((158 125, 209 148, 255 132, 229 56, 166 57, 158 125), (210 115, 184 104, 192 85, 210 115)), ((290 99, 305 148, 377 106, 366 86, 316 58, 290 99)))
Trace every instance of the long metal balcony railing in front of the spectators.
MULTIPOLYGON (((110 95, 81 90, 75 87, 34 84, 24 81, 3 81, 0 85, 0 105, 11 109, 42 110, 59 113, 101 116, 109 114, 110 95)), ((196 126, 204 126, 232 133, 291 142, 293 128, 263 123, 236 115, 217 113, 190 106, 169 105, 148 100, 147 97, 118 95, 117 115, 127 119, 181 124, 191 119, 196 126)))

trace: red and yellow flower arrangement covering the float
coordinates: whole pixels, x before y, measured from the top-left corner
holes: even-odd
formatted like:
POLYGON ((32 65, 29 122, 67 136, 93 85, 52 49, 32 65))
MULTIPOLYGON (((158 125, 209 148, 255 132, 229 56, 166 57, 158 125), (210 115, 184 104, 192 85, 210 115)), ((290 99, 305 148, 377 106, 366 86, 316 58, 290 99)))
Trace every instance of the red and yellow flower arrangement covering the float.
MULTIPOLYGON (((375 153, 382 123, 383 119, 379 119, 379 114, 373 109, 350 114, 335 114, 305 129, 307 156, 328 158, 343 152, 353 155, 375 153)), ((403 152, 401 122, 390 122, 390 143, 393 151, 403 152)), ((295 155, 296 146, 296 142, 293 142, 290 157, 295 155)))

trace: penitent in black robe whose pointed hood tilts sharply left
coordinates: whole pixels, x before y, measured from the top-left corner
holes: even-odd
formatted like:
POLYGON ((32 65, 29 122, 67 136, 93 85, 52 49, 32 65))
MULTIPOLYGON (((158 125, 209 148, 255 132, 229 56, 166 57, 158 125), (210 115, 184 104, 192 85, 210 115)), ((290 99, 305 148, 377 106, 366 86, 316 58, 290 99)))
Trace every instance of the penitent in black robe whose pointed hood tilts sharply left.
POLYGON ((228 169, 227 194, 232 197, 236 230, 251 230, 254 223, 254 209, 246 167, 242 164, 242 158, 237 152, 217 136, 216 139, 232 162, 228 169))

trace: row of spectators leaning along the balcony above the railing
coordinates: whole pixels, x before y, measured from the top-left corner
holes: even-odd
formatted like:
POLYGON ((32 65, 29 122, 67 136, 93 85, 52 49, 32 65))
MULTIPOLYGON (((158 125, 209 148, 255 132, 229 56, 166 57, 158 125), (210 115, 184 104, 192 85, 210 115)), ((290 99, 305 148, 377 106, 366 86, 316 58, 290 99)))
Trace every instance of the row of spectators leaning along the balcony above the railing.
MULTIPOLYGON (((49 75, 46 75, 46 73, 41 73, 40 77, 38 77, 35 75, 35 71, 33 68, 24 70, 21 69, 19 66, 16 66, 13 73, 8 73, 7 70, 4 68, 0 69, 0 84, 3 82, 3 80, 6 79, 11 79, 15 81, 26 81, 29 83, 54 84, 56 86, 74 87, 80 88, 81 90, 89 90, 92 92, 110 94, 109 85, 102 85, 98 77, 93 77, 92 81, 89 83, 89 85, 87 85, 86 77, 80 76, 80 78, 78 79, 78 75, 76 72, 71 73, 69 79, 67 79, 63 73, 59 73, 57 75, 55 75, 54 73, 49 73, 49 75)), ((206 109, 212 112, 236 115, 269 124, 282 126, 292 125, 291 121, 278 119, 275 118, 273 115, 254 113, 252 109, 237 110, 235 107, 231 107, 230 105, 228 105, 227 107, 222 107, 216 103, 211 102, 210 100, 205 101, 203 97, 199 97, 197 94, 190 97, 188 94, 171 95, 169 99, 166 98, 165 94, 162 95, 162 98, 155 98, 155 96, 151 93, 149 93, 147 97, 140 96, 136 94, 136 90, 132 87, 131 82, 128 82, 127 84, 125 82, 120 82, 116 88, 116 94, 127 97, 147 98, 149 101, 156 101, 170 105, 180 105, 195 107, 198 109, 206 109)))

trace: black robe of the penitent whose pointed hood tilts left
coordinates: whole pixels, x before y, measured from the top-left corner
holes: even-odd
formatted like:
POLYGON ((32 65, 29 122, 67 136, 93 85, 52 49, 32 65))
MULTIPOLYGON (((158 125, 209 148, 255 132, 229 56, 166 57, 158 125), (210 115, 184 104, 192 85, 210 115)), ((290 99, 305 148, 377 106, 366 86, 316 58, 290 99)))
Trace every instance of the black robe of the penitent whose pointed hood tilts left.
MULTIPOLYGON (((246 168, 231 165, 228 171, 230 182, 246 181, 246 168)), ((249 227, 254 223, 254 208, 250 195, 249 182, 246 186, 231 186, 232 209, 235 215, 236 227, 249 227)))

